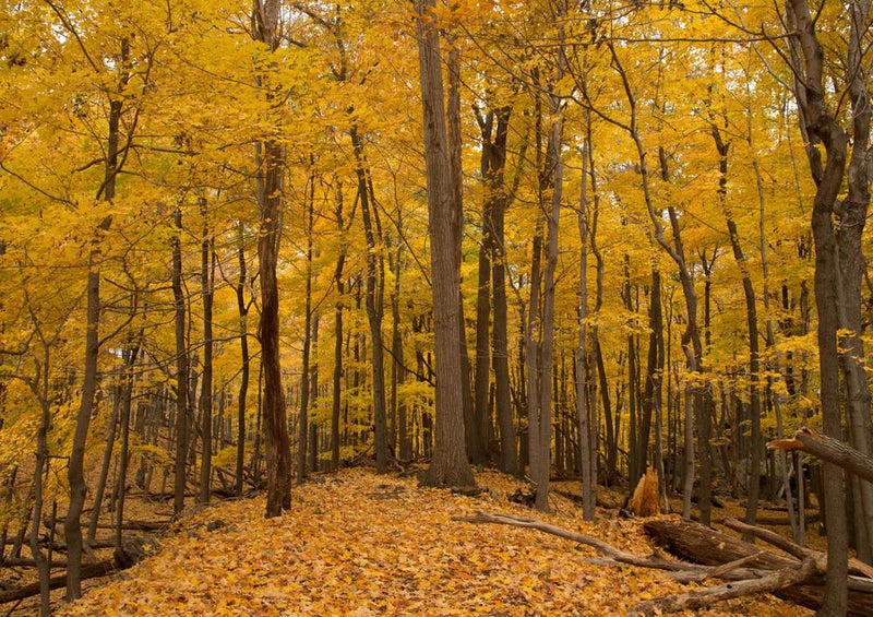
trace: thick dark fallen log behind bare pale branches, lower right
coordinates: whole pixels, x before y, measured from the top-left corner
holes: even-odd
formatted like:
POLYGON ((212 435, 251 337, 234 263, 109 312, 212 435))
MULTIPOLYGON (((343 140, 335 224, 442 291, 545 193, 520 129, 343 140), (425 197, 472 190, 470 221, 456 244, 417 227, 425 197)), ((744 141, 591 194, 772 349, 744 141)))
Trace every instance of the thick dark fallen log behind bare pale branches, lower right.
MULTIPOLYGON (((770 550, 762 550, 760 546, 691 521, 651 519, 643 524, 643 529, 671 555, 706 566, 717 567, 750 557, 748 566, 773 573, 785 569, 798 569, 801 563, 796 558, 777 555, 770 550)), ((873 581, 870 579, 849 578, 847 615, 852 617, 873 615, 872 583, 873 581)), ((816 574, 808 579, 805 584, 793 583, 774 590, 773 594, 815 609, 822 605, 823 584, 823 577, 816 574)))

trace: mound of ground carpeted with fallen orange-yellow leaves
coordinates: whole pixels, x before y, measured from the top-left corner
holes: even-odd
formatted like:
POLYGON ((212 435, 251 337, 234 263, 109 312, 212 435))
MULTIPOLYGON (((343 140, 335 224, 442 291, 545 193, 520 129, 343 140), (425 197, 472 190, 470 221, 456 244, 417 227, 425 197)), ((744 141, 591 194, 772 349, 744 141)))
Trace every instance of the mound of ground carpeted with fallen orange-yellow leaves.
MULTIPOLYGON (((507 502, 517 485, 481 473, 478 498, 419 489, 414 479, 349 470, 294 489, 292 511, 264 520, 262 498, 183 519, 156 554, 60 612, 103 615, 622 615, 635 602, 682 591, 650 570, 586 563, 591 549, 537 532, 453 517, 530 515, 507 502)), ((589 524, 555 497, 549 522, 621 548, 650 551, 638 522, 589 524)), ((703 615, 809 615, 772 596, 703 615)))

